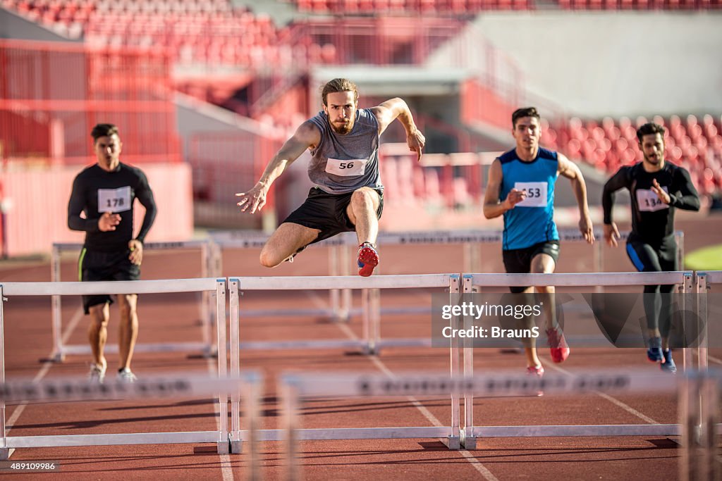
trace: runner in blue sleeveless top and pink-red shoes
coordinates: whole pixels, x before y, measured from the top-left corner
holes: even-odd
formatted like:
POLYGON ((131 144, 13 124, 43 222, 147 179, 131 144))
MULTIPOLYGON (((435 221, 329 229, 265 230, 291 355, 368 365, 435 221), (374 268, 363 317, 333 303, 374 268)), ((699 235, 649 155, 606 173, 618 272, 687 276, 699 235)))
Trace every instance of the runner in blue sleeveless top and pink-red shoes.
MULTIPOLYGON (((504 216, 502 253, 508 273, 553 273, 559 258, 559 233, 554 224, 554 182, 559 175, 572 182, 579 206, 579 229, 592 244, 594 234, 586 200, 586 184, 576 164, 562 154, 539 147, 539 113, 534 107, 512 114, 512 135, 516 148, 492 163, 484 194, 484 216, 504 216)), ((511 287, 515 294, 532 293, 533 287, 511 287)), ((544 296, 547 340, 552 360, 565 361, 569 347, 557 323, 554 287, 538 286, 544 296)), ((531 320, 531 319, 528 319, 531 320)), ((526 370, 542 376, 544 368, 536 356, 534 339, 525 345, 526 370)))

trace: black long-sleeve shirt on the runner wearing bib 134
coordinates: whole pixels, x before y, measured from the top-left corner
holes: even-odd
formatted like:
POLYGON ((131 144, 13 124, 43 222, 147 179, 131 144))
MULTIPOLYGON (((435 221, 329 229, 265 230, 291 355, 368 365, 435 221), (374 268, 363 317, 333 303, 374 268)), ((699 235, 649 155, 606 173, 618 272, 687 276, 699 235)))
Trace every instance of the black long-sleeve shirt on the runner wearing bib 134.
POLYGON ((622 167, 604 185, 601 206, 604 224, 612 224, 614 193, 626 187, 632 198, 632 234, 648 244, 659 244, 674 232, 674 211, 699 211, 700 198, 692 185, 690 173, 683 167, 664 162, 658 172, 645 171, 642 162, 622 167), (651 190, 652 180, 669 194, 669 205, 651 190))

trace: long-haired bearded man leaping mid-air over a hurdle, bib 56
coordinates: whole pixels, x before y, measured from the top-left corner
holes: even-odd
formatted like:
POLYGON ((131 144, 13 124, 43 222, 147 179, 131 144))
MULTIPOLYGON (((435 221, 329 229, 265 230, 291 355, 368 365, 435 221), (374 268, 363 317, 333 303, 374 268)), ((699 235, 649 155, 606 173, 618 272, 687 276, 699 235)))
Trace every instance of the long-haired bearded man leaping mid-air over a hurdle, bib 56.
POLYGON ((383 185, 378 173, 379 136, 398 118, 406 130, 409 150, 421 151, 426 139, 416 128, 404 100, 394 98, 370 109, 358 110, 358 89, 347 79, 329 81, 321 92, 323 112, 306 120, 277 152, 258 183, 240 197, 241 212, 260 211, 274 180, 306 149, 311 188, 308 198, 292 212, 261 250, 261 264, 275 267, 308 244, 344 231, 356 231, 359 275, 368 276, 378 265, 376 237, 383 211, 383 185))

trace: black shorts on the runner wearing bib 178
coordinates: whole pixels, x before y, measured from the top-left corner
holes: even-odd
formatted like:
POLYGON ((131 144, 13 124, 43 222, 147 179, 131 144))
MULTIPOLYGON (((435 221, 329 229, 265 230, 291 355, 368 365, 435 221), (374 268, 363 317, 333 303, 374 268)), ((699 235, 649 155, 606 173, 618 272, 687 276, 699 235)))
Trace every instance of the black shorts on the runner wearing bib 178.
MULTIPOLYGON (((78 276, 80 281, 137 281, 140 278, 140 266, 130 261, 129 249, 119 252, 95 252, 83 250, 78 260, 78 276)), ((82 296, 85 314, 90 313, 90 306, 105 304, 110 299, 108 294, 82 296)))

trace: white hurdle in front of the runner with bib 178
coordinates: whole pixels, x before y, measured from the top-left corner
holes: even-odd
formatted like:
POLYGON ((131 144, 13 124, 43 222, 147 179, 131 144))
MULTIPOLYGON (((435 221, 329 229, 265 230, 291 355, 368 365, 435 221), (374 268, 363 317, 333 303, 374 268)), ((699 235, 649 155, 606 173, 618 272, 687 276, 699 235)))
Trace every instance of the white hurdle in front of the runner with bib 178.
MULTIPOLYGON (((216 327, 218 343, 218 376, 227 376, 226 279, 196 278, 164 281, 103 281, 103 282, 38 282, 0 283, 0 383, 5 382, 4 301, 5 296, 69 296, 94 294, 157 294, 170 292, 214 292, 217 299, 216 327)), ((239 374, 240 375, 240 374, 239 374)), ((141 384, 142 385, 142 384, 141 384)), ((218 431, 183 433, 94 434, 79 436, 6 436, 5 401, 0 401, 1 444, 0 459, 7 459, 16 447, 50 446, 107 446, 115 444, 216 443, 219 453, 227 454, 228 405, 227 394, 219 393, 218 431)))

